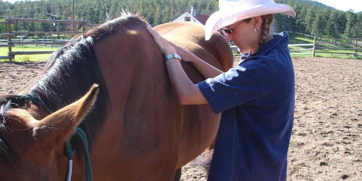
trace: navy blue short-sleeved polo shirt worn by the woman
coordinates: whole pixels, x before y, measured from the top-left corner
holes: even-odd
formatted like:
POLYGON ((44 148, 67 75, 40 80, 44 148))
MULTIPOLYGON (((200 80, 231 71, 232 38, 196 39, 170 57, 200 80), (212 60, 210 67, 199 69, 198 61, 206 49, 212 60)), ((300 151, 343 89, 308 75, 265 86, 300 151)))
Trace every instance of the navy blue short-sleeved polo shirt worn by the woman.
POLYGON ((221 114, 208 181, 286 180, 294 68, 283 32, 255 56, 198 84, 221 114))

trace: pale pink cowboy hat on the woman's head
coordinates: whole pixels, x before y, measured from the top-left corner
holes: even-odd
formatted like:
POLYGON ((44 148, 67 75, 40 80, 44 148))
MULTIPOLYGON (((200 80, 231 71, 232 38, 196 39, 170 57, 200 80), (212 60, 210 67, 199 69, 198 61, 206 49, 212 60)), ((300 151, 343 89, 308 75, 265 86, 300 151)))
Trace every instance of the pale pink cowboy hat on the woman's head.
POLYGON ((206 40, 210 39, 216 30, 247 18, 273 13, 295 16, 292 7, 277 4, 273 0, 219 0, 219 9, 206 21, 206 40))

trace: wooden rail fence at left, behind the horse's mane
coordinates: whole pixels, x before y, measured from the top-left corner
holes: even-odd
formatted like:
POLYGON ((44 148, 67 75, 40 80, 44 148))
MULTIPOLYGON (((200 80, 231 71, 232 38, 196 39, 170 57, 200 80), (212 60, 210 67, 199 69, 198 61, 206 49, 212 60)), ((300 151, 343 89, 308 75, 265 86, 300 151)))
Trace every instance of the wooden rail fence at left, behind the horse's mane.
POLYGON ((82 20, 43 20, 43 19, 25 19, 25 18, 6 18, 5 21, 0 21, 0 24, 8 25, 8 32, 0 34, 0 37, 8 37, 6 43, 0 43, 0 47, 8 47, 8 56, 0 56, 0 59, 12 59, 15 58, 15 55, 34 55, 34 54, 49 54, 52 51, 12 51, 12 47, 15 45, 65 45, 67 41, 51 39, 51 42, 45 42, 45 40, 50 39, 33 39, 32 42, 25 41, 14 41, 12 36, 15 34, 79 34, 85 32, 86 26, 97 26, 97 24, 88 24, 87 21, 82 20), (11 26, 16 21, 21 22, 43 22, 43 23, 67 23, 67 24, 80 24, 81 31, 11 31, 11 26))

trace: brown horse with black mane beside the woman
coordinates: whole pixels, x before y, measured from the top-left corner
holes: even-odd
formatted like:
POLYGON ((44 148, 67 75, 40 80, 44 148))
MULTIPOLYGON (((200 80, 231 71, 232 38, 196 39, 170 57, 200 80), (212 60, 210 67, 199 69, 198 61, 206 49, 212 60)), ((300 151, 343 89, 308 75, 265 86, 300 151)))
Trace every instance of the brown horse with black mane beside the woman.
MULTIPOLYGON (((155 29, 220 70, 232 67, 220 34, 205 41, 195 23, 155 29)), ((194 83, 205 79, 181 64, 194 83)), ((172 180, 210 146, 220 119, 209 105, 179 103, 146 22, 132 14, 54 52, 20 95, 0 96, 0 117, 0 180, 64 180, 68 139, 76 151, 72 179, 84 180, 76 127, 88 137, 94 180, 172 180)))

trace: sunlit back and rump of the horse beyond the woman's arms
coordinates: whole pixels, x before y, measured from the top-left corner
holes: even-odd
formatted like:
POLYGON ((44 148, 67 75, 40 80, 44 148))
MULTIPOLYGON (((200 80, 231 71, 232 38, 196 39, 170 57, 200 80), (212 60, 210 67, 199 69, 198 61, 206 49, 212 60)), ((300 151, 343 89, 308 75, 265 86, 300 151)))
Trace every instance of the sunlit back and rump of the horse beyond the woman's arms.
MULTIPOLYGON (((158 25, 154 29, 162 37, 190 51, 219 70, 226 72, 232 68, 233 55, 230 45, 220 33, 214 33, 210 40, 205 41, 205 26, 189 21, 169 22, 158 25)), ((184 70, 189 69, 192 68, 184 68, 184 70)))

